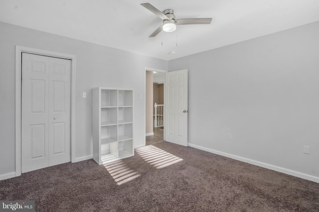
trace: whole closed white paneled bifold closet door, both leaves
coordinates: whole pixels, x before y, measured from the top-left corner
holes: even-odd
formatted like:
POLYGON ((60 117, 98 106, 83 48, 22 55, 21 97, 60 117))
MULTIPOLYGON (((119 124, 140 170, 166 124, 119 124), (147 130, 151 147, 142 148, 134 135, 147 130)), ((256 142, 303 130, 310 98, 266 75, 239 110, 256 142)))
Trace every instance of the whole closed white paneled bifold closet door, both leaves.
POLYGON ((71 161, 71 60, 22 53, 21 172, 71 161))

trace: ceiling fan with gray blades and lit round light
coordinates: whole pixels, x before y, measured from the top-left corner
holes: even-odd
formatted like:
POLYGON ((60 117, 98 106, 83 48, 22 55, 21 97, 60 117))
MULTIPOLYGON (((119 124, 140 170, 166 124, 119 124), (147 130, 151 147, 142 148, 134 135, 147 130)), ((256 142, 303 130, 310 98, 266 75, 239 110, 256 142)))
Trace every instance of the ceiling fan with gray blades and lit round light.
POLYGON ((161 30, 165 32, 173 32, 176 30, 176 25, 183 24, 210 24, 212 18, 182 18, 176 19, 174 15, 174 10, 165 9, 164 13, 158 10, 150 3, 141 3, 142 6, 149 9, 151 12, 159 16, 163 20, 163 24, 155 30, 150 37, 155 37, 160 33, 161 30))

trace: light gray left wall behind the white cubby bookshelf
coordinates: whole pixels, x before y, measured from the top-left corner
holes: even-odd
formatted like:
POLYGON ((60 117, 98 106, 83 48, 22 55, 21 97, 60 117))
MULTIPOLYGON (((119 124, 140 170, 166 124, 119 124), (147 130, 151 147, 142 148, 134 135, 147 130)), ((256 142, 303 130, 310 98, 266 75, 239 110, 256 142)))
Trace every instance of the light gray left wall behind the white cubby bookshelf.
POLYGON ((134 90, 135 145, 143 145, 145 67, 167 70, 167 61, 0 22, 0 175, 15 171, 15 45, 76 55, 76 158, 92 154, 91 89, 98 86, 134 90))

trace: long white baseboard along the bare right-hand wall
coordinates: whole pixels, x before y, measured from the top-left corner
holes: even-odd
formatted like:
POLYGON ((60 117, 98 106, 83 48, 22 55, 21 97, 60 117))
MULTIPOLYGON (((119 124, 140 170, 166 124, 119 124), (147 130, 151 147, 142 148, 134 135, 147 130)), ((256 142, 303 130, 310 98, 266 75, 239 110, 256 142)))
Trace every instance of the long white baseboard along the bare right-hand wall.
POLYGON ((191 143, 188 143, 188 146, 194 147, 196 149, 200 149, 200 150, 203 150, 203 151, 206 151, 206 152, 214 153, 216 155, 225 156, 225 157, 232 158, 232 159, 235 159, 235 160, 239 160, 239 161, 242 161, 242 162, 245 162, 245 163, 249 163, 249 164, 252 164, 252 165, 255 165, 255 166, 260 166, 260 167, 263 167, 263 168, 266 168, 266 169, 271 169, 271 170, 274 170, 274 171, 277 171, 277 172, 281 172, 281 173, 284 173, 284 174, 292 175, 292 176, 299 177, 299 178, 302 178, 302 179, 305 179, 305 180, 310 180, 310 181, 319 183, 319 177, 316 177, 316 176, 313 176, 313 175, 305 174, 305 173, 302 173, 302 172, 297 172, 297 171, 294 171, 294 170, 282 168, 282 167, 271 165, 271 164, 268 164, 268 163, 263 163, 263 162, 252 160, 252 159, 249 159, 249 158, 240 157, 240 156, 229 154, 229 153, 226 153, 226 152, 221 152, 221 151, 218 151, 218 150, 209 149, 209 148, 198 146, 198 145, 191 144, 191 143))

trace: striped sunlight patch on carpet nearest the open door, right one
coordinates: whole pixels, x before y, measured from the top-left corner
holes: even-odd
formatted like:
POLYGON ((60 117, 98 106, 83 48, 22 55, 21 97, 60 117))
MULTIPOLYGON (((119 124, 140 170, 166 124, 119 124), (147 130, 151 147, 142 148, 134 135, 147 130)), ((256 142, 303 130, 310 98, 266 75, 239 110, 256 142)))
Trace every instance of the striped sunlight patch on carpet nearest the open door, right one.
POLYGON ((183 159, 170 154, 153 145, 143 146, 135 150, 146 162, 153 165, 157 169, 170 166, 183 159))

